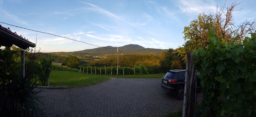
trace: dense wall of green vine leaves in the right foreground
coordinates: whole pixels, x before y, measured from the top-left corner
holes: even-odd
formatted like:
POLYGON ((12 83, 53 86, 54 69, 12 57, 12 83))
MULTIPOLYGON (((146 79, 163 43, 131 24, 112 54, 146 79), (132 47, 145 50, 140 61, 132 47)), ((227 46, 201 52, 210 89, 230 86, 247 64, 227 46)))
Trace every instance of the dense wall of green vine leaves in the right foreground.
POLYGON ((201 114, 211 117, 256 116, 256 37, 241 44, 220 41, 208 34, 208 49, 199 47, 193 58, 201 78, 201 114))

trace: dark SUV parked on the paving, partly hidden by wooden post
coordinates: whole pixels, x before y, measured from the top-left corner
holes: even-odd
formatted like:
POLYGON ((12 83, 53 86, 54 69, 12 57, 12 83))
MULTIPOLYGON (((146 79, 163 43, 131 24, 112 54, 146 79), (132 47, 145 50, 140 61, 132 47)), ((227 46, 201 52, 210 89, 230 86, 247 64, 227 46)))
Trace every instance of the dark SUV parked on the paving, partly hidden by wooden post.
MULTIPOLYGON (((177 99, 182 100, 184 97, 184 86, 185 86, 185 69, 174 69, 166 73, 162 79, 161 87, 172 94, 175 94, 177 99)), ((200 81, 197 81, 200 85, 200 81)))

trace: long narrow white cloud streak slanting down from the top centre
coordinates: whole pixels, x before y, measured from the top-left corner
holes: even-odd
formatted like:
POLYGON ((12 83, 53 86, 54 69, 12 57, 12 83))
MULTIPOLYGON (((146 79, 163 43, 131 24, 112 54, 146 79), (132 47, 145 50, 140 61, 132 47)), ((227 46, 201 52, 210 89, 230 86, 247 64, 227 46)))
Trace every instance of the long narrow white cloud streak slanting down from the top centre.
POLYGON ((114 17, 114 18, 116 18, 116 19, 118 19, 118 20, 121 20, 121 21, 123 21, 123 22, 125 22, 125 23, 130 24, 131 26, 136 27, 134 24, 132 24, 132 23, 130 23, 130 22, 128 22, 128 21, 126 21, 126 20, 124 20, 124 19, 122 19, 122 18, 116 16, 115 14, 111 13, 110 11, 107 11, 107 10, 105 10, 105 9, 99 7, 99 6, 96 6, 96 5, 91 4, 91 3, 86 3, 86 2, 83 2, 83 1, 80 1, 80 2, 92 6, 93 9, 95 9, 95 10, 98 11, 99 13, 108 15, 108 16, 110 16, 110 17, 114 17))

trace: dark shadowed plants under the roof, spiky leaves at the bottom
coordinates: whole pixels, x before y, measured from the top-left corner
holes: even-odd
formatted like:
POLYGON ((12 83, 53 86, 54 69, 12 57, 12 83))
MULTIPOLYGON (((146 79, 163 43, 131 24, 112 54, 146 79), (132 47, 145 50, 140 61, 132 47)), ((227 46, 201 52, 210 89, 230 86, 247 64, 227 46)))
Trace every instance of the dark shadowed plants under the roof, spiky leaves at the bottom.
POLYGON ((42 112, 38 106, 36 96, 38 92, 33 91, 35 83, 32 83, 29 75, 26 77, 27 72, 25 79, 21 78, 19 57, 20 53, 9 47, 0 49, 0 115, 2 117, 35 117, 42 112))

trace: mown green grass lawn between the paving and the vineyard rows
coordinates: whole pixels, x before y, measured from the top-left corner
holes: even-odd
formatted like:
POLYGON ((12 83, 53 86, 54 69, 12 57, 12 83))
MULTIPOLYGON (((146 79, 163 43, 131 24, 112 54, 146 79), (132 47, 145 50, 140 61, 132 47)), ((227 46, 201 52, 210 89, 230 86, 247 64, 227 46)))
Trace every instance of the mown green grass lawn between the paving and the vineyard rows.
POLYGON ((145 75, 91 75, 73 71, 51 71, 50 86, 87 86, 101 83, 110 77, 116 78, 162 78, 164 74, 145 75))

